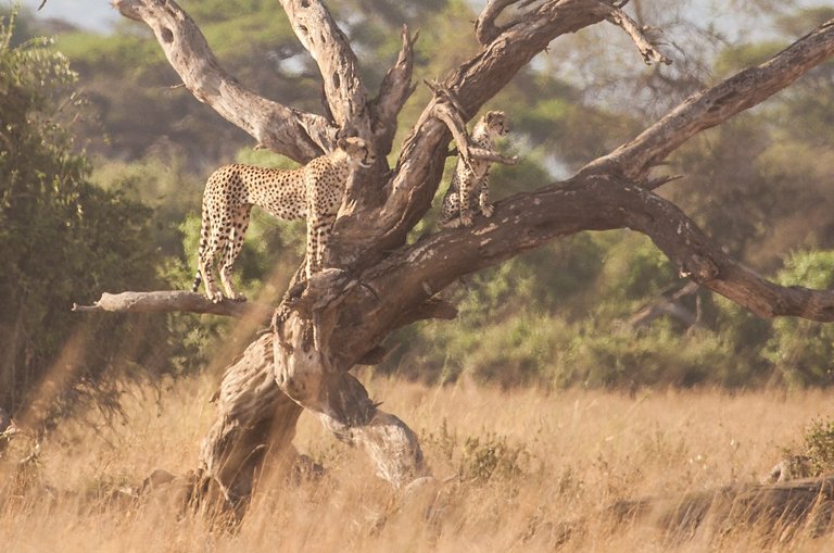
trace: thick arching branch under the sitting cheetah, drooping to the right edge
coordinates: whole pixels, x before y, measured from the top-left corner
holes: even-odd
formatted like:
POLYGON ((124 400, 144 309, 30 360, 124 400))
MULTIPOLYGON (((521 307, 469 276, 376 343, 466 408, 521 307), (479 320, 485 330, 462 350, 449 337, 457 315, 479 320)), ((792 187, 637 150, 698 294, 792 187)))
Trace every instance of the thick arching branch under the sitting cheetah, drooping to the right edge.
MULTIPOLYGON (((834 321, 834 291, 783 287, 766 280, 724 253, 673 203, 618 177, 574 177, 564 185, 497 202, 495 208, 492 218, 479 221, 471 229, 431 235, 399 254, 400 263, 407 260, 404 265, 410 281, 437 291, 465 274, 558 236, 631 228, 652 238, 682 277, 761 317, 834 321)), ((405 275, 397 269, 389 272, 389 277, 399 281, 402 297, 405 275)))

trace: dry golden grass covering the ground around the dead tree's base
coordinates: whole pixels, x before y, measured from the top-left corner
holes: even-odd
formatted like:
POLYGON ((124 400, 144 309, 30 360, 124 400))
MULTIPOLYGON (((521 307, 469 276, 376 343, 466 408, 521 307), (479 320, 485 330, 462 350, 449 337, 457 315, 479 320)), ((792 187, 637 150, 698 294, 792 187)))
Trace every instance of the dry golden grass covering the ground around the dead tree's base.
MULTIPOLYGON (((300 485, 261 486, 236 532, 177 516, 160 501, 102 498, 155 468, 194 468, 213 406, 208 378, 125 401, 129 420, 93 429, 70 422, 42 444, 26 493, 0 493, 0 543, 14 552, 132 551, 751 551, 762 528, 704 530, 673 542, 645 524, 614 528, 619 500, 678 495, 758 481, 781 448, 814 417, 823 392, 502 392, 459 384, 425 388, 374 379, 371 397, 420 435, 442 486, 408 494, 376 479, 351 450, 303 416, 295 444, 328 473, 300 485), (54 490, 43 491, 43 486, 54 490)), ((90 417, 94 422, 94 416, 90 417)), ((5 477, 9 482, 8 476, 5 477)), ((17 490, 18 491, 18 490, 17 490)), ((824 551, 830 539, 798 532, 768 543, 824 551)))

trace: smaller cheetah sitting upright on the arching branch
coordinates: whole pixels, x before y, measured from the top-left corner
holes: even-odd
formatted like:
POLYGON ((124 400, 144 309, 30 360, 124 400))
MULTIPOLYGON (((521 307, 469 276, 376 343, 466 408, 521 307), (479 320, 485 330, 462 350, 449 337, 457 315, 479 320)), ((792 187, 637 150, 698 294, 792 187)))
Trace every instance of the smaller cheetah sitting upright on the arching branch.
MULTIPOLYGON (((504 112, 491 111, 478 120, 472 129, 472 146, 494 150, 493 140, 509 133, 509 122, 504 112)), ((440 225, 446 228, 472 226, 472 214, 479 210, 484 217, 492 217, 490 203, 490 166, 486 160, 472 160, 472 167, 457 158, 452 185, 443 198, 440 225)))

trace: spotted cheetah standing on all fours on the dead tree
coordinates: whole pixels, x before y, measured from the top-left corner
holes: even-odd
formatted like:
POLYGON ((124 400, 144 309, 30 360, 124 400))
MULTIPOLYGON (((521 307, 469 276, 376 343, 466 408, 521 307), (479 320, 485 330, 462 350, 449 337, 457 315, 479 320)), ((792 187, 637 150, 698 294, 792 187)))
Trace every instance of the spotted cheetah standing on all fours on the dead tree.
POLYGON ((251 165, 225 165, 215 171, 203 192, 199 264, 192 291, 205 282, 205 293, 217 303, 223 293, 212 275, 218 253, 226 296, 236 301, 245 298, 235 291, 231 267, 243 246, 252 205, 282 219, 307 219, 306 275, 321 269, 324 251, 342 204, 351 171, 370 167, 376 162, 370 144, 362 138, 342 138, 337 149, 295 169, 274 169, 251 165))

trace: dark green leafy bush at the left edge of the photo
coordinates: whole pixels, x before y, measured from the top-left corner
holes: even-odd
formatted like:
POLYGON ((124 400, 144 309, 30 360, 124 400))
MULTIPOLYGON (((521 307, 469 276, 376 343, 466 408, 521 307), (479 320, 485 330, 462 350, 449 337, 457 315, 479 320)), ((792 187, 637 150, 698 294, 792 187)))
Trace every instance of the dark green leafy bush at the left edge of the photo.
POLYGON ((46 39, 11 46, 13 18, 0 24, 0 405, 38 400, 48 413, 108 391, 100 377, 116 366, 164 366, 164 349, 143 341, 160 338, 147 318, 70 311, 103 290, 153 286, 155 248, 150 209, 90 184, 74 153, 62 123, 78 108, 66 58, 46 39), (65 382, 66 393, 41 380, 65 382))

